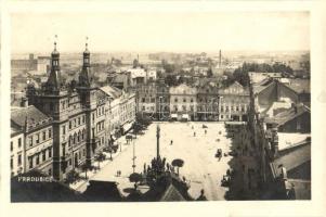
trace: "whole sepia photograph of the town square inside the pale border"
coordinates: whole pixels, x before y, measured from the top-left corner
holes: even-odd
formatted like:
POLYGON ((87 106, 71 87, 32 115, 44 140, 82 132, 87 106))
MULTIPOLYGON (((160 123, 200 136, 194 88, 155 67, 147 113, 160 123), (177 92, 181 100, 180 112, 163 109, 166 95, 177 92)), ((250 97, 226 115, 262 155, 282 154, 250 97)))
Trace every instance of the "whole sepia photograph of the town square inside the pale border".
POLYGON ((11 202, 311 200, 309 11, 10 18, 11 202))

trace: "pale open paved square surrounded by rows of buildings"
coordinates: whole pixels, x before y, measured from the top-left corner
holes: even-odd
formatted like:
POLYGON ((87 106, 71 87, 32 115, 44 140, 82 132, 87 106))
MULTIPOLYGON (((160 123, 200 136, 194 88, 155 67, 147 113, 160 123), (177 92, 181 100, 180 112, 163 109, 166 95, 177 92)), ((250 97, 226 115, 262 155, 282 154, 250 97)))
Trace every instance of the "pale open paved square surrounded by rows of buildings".
MULTIPOLYGON (((138 136, 134 140, 136 173, 142 173, 144 163, 148 165, 151 159, 156 156, 157 124, 153 123, 144 135, 138 136)), ((169 163, 174 158, 184 161, 183 167, 180 168, 180 176, 184 176, 191 183, 190 194, 196 199, 204 189, 208 200, 225 200, 224 194, 227 188, 221 187, 220 183, 223 175, 226 174, 227 162, 232 156, 223 156, 220 162, 214 156, 218 149, 222 149, 223 154, 230 150, 231 141, 225 138, 224 123, 159 123, 159 126, 160 156, 166 157, 169 163), (203 128, 203 125, 206 125, 207 128, 203 128), (219 133, 220 131, 221 133, 219 133)), ((91 179, 117 181, 121 193, 125 194, 125 189, 133 188, 133 183, 128 179, 132 173, 133 144, 131 142, 131 144, 123 143, 122 145, 129 146, 91 179), (120 177, 116 177, 117 170, 121 170, 120 177)), ((86 187, 83 184, 78 190, 84 191, 86 187)))

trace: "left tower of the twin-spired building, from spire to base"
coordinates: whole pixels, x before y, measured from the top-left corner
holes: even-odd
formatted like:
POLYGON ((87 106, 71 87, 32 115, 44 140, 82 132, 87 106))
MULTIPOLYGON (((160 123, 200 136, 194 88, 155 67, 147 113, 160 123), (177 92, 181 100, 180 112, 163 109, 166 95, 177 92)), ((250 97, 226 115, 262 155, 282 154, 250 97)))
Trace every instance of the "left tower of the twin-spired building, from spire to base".
POLYGON ((61 78, 60 52, 56 48, 56 40, 51 53, 51 71, 48 80, 42 85, 40 91, 29 88, 27 97, 30 104, 53 119, 52 176, 56 180, 62 180, 64 174, 67 173, 69 158, 66 133, 69 116, 69 95, 61 78))

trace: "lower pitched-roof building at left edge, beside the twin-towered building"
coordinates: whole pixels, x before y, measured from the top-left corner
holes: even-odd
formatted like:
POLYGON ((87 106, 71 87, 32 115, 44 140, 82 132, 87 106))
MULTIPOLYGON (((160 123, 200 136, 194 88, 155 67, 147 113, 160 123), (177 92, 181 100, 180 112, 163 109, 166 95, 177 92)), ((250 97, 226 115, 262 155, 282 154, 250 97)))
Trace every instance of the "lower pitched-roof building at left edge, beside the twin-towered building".
POLYGON ((11 141, 12 176, 35 169, 52 176, 52 118, 34 105, 15 107, 12 110, 11 125, 18 129, 11 141))

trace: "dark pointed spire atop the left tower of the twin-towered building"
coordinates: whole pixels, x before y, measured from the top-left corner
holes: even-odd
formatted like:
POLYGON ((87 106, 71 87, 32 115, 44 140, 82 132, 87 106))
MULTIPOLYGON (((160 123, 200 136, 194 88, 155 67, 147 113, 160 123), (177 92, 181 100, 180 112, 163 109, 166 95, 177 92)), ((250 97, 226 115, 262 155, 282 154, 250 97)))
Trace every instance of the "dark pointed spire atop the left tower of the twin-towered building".
POLYGON ((57 91, 61 87, 60 80, 60 53, 56 50, 57 35, 54 37, 54 49, 51 53, 51 71, 47 82, 47 88, 51 91, 57 91))

